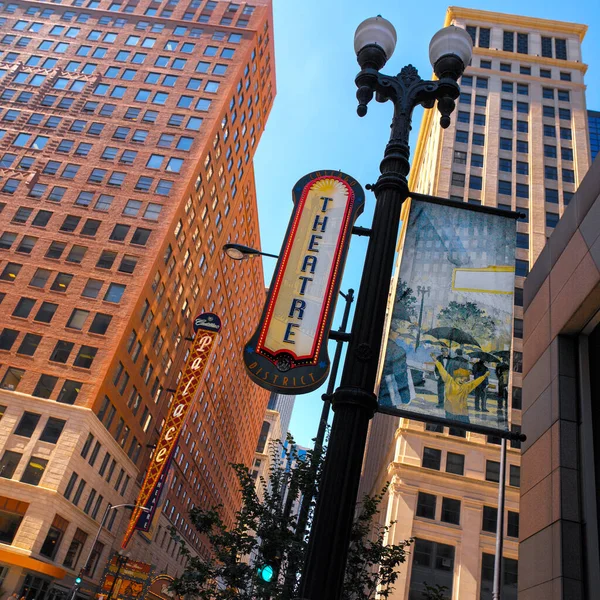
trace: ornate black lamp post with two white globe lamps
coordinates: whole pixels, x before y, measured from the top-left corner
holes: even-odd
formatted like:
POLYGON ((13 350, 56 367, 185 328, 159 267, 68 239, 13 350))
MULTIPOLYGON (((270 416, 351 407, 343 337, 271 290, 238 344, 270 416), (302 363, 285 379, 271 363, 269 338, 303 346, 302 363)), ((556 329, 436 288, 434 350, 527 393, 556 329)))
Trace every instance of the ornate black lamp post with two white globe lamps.
POLYGON ((341 385, 332 399, 335 416, 300 591, 300 597, 306 600, 341 598, 367 428, 377 409, 373 390, 400 209, 409 195, 412 112, 417 105, 433 108, 437 100, 440 125, 448 127, 460 92, 457 80, 471 59, 470 36, 450 26, 438 31, 429 46, 438 80, 423 81, 411 65, 397 76, 383 75, 379 70, 395 44, 393 25, 381 17, 361 23, 354 37, 361 67, 356 76, 359 116, 367 113, 367 105, 375 95, 379 102, 393 102, 394 117, 381 175, 375 185, 367 186, 375 192, 377 203, 341 385))

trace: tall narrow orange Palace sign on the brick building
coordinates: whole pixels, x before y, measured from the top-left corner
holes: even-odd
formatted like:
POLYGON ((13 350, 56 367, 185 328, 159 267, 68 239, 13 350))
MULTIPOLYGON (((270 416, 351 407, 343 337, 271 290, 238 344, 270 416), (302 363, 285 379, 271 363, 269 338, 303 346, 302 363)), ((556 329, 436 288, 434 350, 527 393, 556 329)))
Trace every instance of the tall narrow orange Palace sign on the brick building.
POLYGON ((148 531, 150 528, 179 434, 202 381, 215 338, 220 330, 221 320, 215 314, 203 313, 194 319, 196 336, 190 355, 177 385, 171 409, 150 459, 146 477, 136 501, 137 506, 148 509, 148 512, 145 513, 141 508, 134 509, 123 538, 123 548, 127 547, 136 529, 148 531))

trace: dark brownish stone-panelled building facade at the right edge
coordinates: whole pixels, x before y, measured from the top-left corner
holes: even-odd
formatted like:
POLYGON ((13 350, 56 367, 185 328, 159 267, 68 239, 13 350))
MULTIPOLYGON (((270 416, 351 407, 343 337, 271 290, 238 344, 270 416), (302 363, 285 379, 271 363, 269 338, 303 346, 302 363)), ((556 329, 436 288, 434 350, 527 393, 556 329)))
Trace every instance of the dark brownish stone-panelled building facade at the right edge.
POLYGON ((519 598, 600 587, 600 161, 525 282, 519 598))

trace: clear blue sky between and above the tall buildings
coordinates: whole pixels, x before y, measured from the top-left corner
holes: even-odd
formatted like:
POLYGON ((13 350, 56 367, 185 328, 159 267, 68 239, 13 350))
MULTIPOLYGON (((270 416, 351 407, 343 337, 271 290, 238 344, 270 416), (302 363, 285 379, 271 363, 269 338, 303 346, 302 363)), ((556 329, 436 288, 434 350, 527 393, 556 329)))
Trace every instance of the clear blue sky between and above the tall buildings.
MULTIPOLYGON (((587 106, 600 110, 600 3, 598 0, 482 1, 459 6, 585 23, 583 60, 587 106), (524 8, 524 6, 526 8, 524 8)), ((372 102, 366 117, 356 115, 358 71, 353 51, 356 26, 365 18, 383 15, 398 32, 394 55, 384 71, 394 74, 413 64, 422 77, 431 76, 429 40, 443 26, 448 4, 439 0, 274 0, 277 95, 255 158, 262 249, 277 254, 292 211, 291 189, 306 173, 341 169, 363 187, 379 174, 379 162, 389 136, 392 107, 372 102)), ((412 148, 422 111, 415 111, 412 148)), ((369 227, 374 196, 367 192, 366 209, 357 225, 369 227)), ((358 292, 366 241, 354 237, 342 289, 358 292)), ((275 261, 265 258, 268 285, 275 261)), ((334 326, 341 319, 338 304, 334 326)), ((330 343, 330 357, 334 344, 330 343)), ((302 445, 312 445, 321 413, 323 389, 298 396, 290 430, 302 445)))

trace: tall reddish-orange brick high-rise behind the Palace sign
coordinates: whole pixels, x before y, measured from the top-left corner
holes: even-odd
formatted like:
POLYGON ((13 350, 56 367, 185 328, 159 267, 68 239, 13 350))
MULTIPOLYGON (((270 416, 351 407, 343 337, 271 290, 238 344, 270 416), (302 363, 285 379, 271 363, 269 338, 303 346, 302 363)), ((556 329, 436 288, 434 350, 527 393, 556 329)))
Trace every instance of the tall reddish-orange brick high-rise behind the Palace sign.
MULTIPOLYGON (((109 504, 135 502, 187 357, 223 322, 152 536, 239 500, 268 393, 240 348, 261 310, 252 158, 275 94, 270 0, 0 3, 0 584, 66 597, 109 504), (149 448, 150 446, 150 448, 149 448), (62 580, 62 581, 61 581, 62 580)), ((128 520, 109 511, 81 597, 128 520)), ((36 595, 39 594, 39 595, 36 595)))

